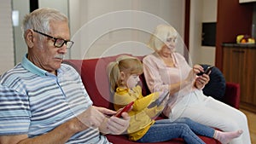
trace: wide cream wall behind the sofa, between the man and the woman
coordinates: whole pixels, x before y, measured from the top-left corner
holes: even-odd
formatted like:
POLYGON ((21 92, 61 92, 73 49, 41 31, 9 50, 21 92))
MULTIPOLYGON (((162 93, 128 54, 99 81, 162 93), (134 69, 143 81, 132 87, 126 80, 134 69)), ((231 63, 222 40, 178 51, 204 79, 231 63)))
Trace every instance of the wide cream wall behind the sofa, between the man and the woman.
POLYGON ((127 53, 148 53, 145 43, 160 23, 169 23, 182 37, 184 34, 184 0, 70 0, 69 3, 75 41, 73 59, 109 55, 109 51, 124 53, 124 47, 132 47, 127 53))

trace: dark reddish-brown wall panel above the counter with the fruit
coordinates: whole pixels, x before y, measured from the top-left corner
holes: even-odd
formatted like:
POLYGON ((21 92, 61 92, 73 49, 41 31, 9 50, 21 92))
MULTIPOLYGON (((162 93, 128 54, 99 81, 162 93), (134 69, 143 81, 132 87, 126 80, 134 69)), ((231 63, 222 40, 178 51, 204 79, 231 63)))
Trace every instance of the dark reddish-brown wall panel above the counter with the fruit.
POLYGON ((251 34, 253 3, 238 0, 218 0, 215 66, 222 71, 222 43, 236 43, 236 35, 251 34))

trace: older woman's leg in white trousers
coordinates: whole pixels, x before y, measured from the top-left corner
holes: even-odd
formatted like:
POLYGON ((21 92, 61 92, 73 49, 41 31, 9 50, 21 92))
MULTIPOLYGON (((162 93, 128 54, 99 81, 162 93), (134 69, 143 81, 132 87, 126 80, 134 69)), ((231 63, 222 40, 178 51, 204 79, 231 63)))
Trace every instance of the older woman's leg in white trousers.
POLYGON ((233 139, 230 143, 251 143, 247 118, 241 111, 214 100, 212 97, 202 96, 203 98, 198 98, 201 99, 200 101, 187 106, 180 117, 191 118, 198 123, 206 124, 225 132, 242 130, 243 134, 233 139))

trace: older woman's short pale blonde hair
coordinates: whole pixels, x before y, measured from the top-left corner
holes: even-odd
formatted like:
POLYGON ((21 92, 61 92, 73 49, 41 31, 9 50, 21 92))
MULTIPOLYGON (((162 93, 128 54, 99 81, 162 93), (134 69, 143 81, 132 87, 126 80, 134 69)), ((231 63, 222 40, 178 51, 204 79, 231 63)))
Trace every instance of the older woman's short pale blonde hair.
POLYGON ((177 37, 177 31, 172 26, 159 25, 151 35, 148 47, 154 51, 160 50, 169 37, 177 37))

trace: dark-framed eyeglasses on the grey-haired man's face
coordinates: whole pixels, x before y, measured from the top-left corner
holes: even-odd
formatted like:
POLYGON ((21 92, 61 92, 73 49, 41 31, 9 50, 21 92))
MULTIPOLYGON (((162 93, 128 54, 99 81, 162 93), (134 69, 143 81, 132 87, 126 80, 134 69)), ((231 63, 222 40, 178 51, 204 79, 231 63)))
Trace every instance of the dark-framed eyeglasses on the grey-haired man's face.
MULTIPOLYGON (((33 31, 38 32, 37 30, 34 30, 34 29, 33 29, 33 31)), ((62 38, 52 37, 52 36, 49 36, 48 34, 45 34, 43 32, 38 32, 38 33, 41 34, 41 35, 44 35, 45 37, 49 37, 49 38, 54 39, 55 40, 54 46, 57 47, 57 48, 61 48, 64 43, 67 45, 67 49, 70 49, 73 46, 73 41, 67 41, 67 40, 62 39, 62 38)))

